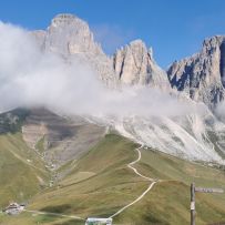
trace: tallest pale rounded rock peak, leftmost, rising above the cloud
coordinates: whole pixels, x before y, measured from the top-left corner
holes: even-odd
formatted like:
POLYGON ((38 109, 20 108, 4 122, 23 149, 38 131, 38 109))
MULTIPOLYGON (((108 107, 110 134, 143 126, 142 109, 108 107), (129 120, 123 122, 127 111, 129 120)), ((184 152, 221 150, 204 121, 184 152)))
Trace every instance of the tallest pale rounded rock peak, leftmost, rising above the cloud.
POLYGON ((73 14, 58 14, 47 31, 33 31, 32 35, 43 51, 60 54, 64 59, 91 65, 109 86, 115 85, 112 60, 94 41, 89 24, 73 14))

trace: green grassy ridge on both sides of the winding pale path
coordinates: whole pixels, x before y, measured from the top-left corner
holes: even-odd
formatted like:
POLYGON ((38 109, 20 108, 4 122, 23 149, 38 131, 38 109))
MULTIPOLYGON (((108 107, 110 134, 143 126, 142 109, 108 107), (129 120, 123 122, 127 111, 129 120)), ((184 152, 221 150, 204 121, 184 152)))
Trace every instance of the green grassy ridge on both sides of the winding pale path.
MULTIPOLYGON (((137 154, 131 141, 119 135, 106 135, 95 147, 78 162, 67 166, 71 174, 58 186, 37 195, 31 209, 58 212, 79 216, 109 216, 135 200, 149 183, 134 175, 126 164, 137 154), (44 201, 43 201, 44 200, 44 201)), ((190 183, 225 188, 223 171, 185 162, 153 151, 142 151, 139 170, 163 182, 136 205, 115 217, 120 224, 188 224, 190 183)), ((225 195, 196 194, 197 224, 225 222, 225 195)), ((0 217, 4 225, 83 224, 52 216, 0 217)), ((1 224, 1 223, 0 223, 1 224)))

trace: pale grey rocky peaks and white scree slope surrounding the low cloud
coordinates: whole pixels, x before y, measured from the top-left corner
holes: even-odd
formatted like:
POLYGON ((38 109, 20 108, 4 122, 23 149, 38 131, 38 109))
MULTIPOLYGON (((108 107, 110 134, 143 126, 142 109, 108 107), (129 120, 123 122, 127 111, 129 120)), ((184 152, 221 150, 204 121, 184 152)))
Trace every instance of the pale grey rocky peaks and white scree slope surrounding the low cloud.
POLYGON ((112 57, 106 55, 89 24, 73 14, 58 14, 47 30, 31 34, 43 52, 89 64, 109 89, 144 86, 202 109, 201 113, 158 114, 156 119, 92 117, 94 123, 103 121, 123 135, 165 153, 224 164, 225 124, 215 111, 224 100, 225 37, 206 39, 201 52, 175 61, 164 71, 155 62, 152 48, 147 49, 142 40, 132 41, 112 57))

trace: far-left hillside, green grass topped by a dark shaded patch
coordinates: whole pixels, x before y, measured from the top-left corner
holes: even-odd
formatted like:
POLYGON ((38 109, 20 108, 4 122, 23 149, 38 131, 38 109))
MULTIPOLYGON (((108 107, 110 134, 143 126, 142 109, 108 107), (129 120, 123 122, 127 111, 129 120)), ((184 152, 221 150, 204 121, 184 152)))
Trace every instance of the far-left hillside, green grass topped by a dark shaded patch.
POLYGON ((0 207, 12 201, 27 202, 49 185, 49 171, 22 139, 28 115, 22 109, 0 114, 0 207))

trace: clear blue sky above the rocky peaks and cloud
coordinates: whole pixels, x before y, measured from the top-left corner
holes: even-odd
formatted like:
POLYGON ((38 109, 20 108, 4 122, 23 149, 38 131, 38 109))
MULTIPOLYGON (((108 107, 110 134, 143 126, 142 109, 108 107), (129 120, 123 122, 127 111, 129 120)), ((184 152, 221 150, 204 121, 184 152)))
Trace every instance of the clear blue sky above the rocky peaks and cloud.
POLYGON ((44 29, 61 12, 88 21, 109 54, 142 39, 163 68, 225 34, 225 0, 0 0, 0 20, 27 29, 44 29))

